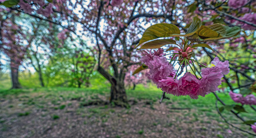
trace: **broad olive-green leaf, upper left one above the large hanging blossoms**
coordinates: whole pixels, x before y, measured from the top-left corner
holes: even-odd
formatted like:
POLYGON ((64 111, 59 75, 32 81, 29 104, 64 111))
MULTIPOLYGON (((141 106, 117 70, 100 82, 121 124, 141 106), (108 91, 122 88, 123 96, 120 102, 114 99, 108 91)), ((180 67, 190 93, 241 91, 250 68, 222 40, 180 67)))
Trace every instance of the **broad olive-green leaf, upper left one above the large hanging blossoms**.
POLYGON ((146 41, 154 40, 160 37, 171 37, 171 34, 180 34, 179 28, 175 25, 165 23, 152 25, 145 30, 137 47, 146 41))

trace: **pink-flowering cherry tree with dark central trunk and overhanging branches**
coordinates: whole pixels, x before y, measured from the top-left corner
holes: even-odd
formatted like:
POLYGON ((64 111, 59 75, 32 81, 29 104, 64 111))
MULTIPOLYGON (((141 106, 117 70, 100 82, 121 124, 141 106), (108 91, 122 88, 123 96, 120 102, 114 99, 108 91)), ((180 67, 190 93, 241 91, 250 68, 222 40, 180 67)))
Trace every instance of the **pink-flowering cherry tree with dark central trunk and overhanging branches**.
MULTIPOLYGON (((80 31, 81 36, 93 37, 97 70, 111 83, 110 102, 116 105, 126 105, 125 76, 129 76, 130 66, 141 64, 139 61, 143 64, 138 70, 149 68, 149 79, 164 92, 188 95, 193 99, 219 90, 221 84, 228 87, 226 91, 237 94, 253 87, 255 82, 256 2, 253 0, 1 2, 8 10, 59 25, 63 28, 59 38, 65 38, 67 31, 76 34, 80 31), (194 23, 191 23, 192 20, 194 23), (168 24, 157 25, 163 22, 168 24), (148 25, 153 26, 146 29, 148 25), (77 26, 81 28, 79 31, 77 26), (243 29, 242 32, 238 26, 243 29), (144 31, 147 36, 142 35, 144 31), (237 34, 242 37, 234 37, 237 34), (171 38, 160 40, 160 37, 171 38), (167 44, 171 47, 169 45, 168 49, 164 47, 154 52, 133 51, 136 44, 141 45, 141 49, 160 48, 167 44), (239 53, 241 51, 243 56, 239 53), (231 53, 234 59, 228 56, 231 53), (214 67, 201 62, 204 57, 211 60, 214 67), (175 65, 179 68, 174 68, 175 65), (182 74, 184 71, 186 73, 182 74)), ((253 91, 242 94, 242 97, 253 91)), ((244 102, 244 98, 238 97, 244 102)), ((230 105, 226 105, 217 95, 216 99, 222 105, 217 108, 221 114, 221 110, 230 105)), ((253 99, 253 96, 246 99, 253 99)), ((249 106, 255 110, 254 106, 249 106)), ((246 122, 239 115, 240 109, 243 109, 242 105, 235 105, 229 111, 255 128, 252 121, 246 122)))

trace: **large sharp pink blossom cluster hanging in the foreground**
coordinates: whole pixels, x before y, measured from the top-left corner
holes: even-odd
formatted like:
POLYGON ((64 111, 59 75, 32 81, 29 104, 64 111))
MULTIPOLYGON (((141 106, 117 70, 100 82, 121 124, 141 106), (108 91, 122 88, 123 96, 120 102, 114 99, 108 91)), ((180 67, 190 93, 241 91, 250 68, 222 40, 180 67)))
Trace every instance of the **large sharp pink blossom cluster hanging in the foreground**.
POLYGON ((157 51, 146 52, 145 56, 141 58, 149 68, 149 79, 156 83, 158 88, 161 88, 168 94, 189 95, 192 99, 198 99, 198 95, 205 96, 210 92, 219 90, 218 86, 221 85, 221 78, 223 75, 229 73, 228 61, 220 62, 218 57, 215 57, 212 68, 202 69, 202 78, 198 79, 190 72, 186 72, 179 80, 174 77, 175 71, 171 64, 164 56, 163 49, 157 51))

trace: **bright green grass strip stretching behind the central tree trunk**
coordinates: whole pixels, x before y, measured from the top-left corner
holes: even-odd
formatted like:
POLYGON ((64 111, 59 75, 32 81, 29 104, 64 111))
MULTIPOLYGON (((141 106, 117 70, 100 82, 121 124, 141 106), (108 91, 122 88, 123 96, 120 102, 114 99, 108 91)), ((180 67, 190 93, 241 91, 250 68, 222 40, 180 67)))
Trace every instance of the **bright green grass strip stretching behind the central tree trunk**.
MULTIPOLYGON (((127 90, 127 97, 129 99, 134 99, 135 101, 144 100, 144 106, 149 107, 152 110, 155 110, 154 105, 158 104, 161 98, 161 90, 157 89, 156 86, 150 85, 145 88, 142 85, 138 85, 135 90, 127 90)), ((54 105, 55 110, 65 110, 67 106, 71 104, 63 105, 62 103, 67 100, 80 100, 80 103, 88 102, 89 100, 97 99, 99 95, 105 95, 107 100, 110 96, 110 89, 108 87, 96 88, 69 88, 69 87, 52 87, 52 88, 36 88, 36 89, 16 89, 16 90, 6 90, 0 89, 0 97, 3 98, 19 98, 19 101, 22 101, 23 104, 28 106, 35 105, 38 109, 44 109, 47 102, 51 102, 54 105), (33 97, 31 96, 33 95, 33 97)), ((220 99, 222 99, 225 104, 231 105, 235 104, 234 101, 229 97, 228 94, 218 93, 220 99)), ((219 114, 216 112, 215 102, 216 98, 213 94, 208 94, 205 97, 199 97, 198 99, 191 99, 190 97, 175 97, 173 95, 167 94, 167 97, 170 97, 170 100, 164 99, 163 104, 168 105, 168 109, 171 112, 186 112, 184 116, 193 116, 194 121, 201 121, 201 116, 209 116, 214 120, 223 121, 219 114), (172 110, 172 108, 184 108, 186 110, 172 110), (194 114, 189 114, 189 110, 197 110, 194 114)), ((221 106, 218 103, 219 107, 221 106)), ((133 106, 133 105, 131 105, 133 106)), ((13 108, 13 105, 10 105, 9 108, 13 108)), ((91 112, 91 116, 95 114, 96 116, 101 116, 101 109, 108 109, 111 106, 100 106, 99 108, 88 109, 91 112)), ((254 111, 250 106, 244 106, 248 113, 240 113, 246 120, 254 120, 255 115, 254 111)), ((82 109, 82 106, 81 106, 82 109)), ((114 109, 110 109, 108 113, 114 113, 114 109)), ((125 110, 129 114, 129 110, 125 110)), ((77 110, 78 114, 82 114, 82 110, 77 110)), ((27 114, 28 115, 28 114, 27 114)), ((27 116, 24 113, 21 113, 18 116, 27 116)), ((233 122, 240 123, 240 121, 227 110, 223 111, 223 116, 227 117, 233 122)))

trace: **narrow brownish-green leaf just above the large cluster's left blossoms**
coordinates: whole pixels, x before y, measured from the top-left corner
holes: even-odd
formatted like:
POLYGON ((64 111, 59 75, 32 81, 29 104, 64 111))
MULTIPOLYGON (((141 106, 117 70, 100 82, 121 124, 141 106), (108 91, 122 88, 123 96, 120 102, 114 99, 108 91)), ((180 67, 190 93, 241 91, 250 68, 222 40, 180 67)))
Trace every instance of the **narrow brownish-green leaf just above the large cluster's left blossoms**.
POLYGON ((168 44, 176 44, 176 41, 172 39, 157 39, 157 40, 149 41, 147 43, 142 44, 140 49, 160 48, 168 44))

